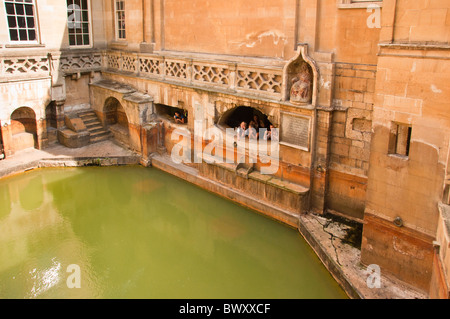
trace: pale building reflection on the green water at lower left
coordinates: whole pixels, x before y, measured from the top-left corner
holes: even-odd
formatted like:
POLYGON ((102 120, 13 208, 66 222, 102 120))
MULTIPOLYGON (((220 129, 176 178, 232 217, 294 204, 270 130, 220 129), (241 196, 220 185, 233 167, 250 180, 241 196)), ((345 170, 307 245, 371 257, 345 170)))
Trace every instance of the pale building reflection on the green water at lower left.
POLYGON ((95 298, 91 284, 66 285, 66 268, 78 263, 92 277, 82 241, 53 205, 42 171, 0 181, 10 195, 9 214, 0 220, 0 298, 95 298), (35 192, 35 193, 34 193, 35 192))

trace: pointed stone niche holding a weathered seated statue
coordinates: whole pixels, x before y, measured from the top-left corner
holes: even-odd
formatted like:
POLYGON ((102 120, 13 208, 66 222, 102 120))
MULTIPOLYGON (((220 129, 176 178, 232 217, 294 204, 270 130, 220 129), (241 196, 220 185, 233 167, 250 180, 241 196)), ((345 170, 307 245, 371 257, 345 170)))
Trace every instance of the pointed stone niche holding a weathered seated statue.
POLYGON ((297 55, 284 69, 284 100, 294 105, 315 105, 317 68, 307 56, 307 45, 299 45, 297 55))

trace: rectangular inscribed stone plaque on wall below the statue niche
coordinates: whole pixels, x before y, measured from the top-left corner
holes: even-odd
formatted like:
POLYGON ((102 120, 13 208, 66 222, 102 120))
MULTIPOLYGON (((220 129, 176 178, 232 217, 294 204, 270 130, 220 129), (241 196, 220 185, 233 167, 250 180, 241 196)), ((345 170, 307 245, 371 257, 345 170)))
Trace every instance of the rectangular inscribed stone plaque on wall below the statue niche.
POLYGON ((310 118, 281 113, 280 142, 309 150, 310 118))

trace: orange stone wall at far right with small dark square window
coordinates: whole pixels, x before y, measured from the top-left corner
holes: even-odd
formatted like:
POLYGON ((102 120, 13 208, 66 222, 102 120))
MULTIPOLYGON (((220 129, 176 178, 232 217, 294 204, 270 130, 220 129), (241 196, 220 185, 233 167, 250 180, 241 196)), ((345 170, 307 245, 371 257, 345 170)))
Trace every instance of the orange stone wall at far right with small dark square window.
POLYGON ((439 18, 447 8, 445 1, 385 1, 389 23, 380 40, 396 42, 380 45, 372 114, 361 261, 378 260, 386 272, 424 291, 430 289, 450 136, 444 85, 450 26, 439 18), (434 30, 429 41, 425 30, 434 30), (392 148, 405 142, 399 126, 410 128, 406 153, 392 148))

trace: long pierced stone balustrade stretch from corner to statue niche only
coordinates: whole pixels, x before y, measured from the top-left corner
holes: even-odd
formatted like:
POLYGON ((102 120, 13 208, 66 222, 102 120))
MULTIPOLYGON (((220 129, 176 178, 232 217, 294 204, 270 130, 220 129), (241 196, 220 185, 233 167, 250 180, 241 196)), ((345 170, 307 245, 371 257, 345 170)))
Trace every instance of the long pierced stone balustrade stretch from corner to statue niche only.
POLYGON ((230 93, 255 94, 276 101, 282 99, 281 67, 119 51, 104 52, 104 67, 112 72, 143 78, 230 93))

